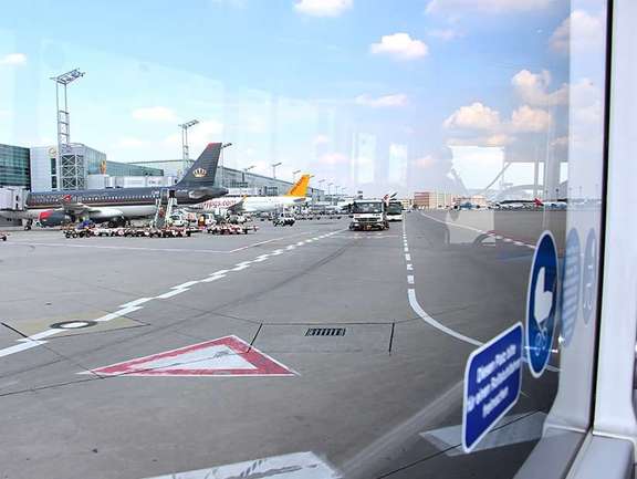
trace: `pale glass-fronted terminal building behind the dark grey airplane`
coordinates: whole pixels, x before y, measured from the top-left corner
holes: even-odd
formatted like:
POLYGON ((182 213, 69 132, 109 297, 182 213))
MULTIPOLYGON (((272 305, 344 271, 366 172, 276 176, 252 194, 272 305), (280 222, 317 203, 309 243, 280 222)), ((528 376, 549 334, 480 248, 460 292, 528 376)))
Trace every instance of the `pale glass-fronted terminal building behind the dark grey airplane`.
MULTIPOLYGON (((160 168, 108 162, 105 153, 81 143, 71 144, 60 158, 55 146, 30 148, 30 157, 33 191, 86 189, 93 175, 112 178, 164 176, 160 168)), ((93 179, 91 183, 93 187, 100 185, 98 180, 93 179)))

